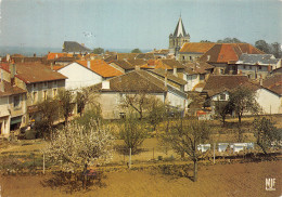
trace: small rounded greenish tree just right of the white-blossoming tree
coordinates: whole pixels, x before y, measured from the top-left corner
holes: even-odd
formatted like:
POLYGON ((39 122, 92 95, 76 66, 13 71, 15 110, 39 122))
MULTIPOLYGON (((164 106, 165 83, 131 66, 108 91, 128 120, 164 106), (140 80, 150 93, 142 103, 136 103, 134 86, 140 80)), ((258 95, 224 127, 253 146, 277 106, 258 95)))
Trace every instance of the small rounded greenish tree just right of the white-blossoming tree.
POLYGON ((138 120, 133 116, 126 118, 121 124, 119 135, 124 140, 126 147, 131 148, 134 154, 138 147, 142 145, 146 137, 146 129, 144 128, 144 122, 138 120))

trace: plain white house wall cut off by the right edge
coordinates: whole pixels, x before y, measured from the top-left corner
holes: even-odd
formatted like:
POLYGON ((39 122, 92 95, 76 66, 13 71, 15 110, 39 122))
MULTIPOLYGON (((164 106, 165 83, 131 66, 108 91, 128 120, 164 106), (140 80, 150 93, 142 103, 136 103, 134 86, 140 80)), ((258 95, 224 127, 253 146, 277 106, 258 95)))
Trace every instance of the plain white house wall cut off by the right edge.
POLYGON ((267 90, 257 90, 257 102, 262 107, 265 114, 281 114, 282 113, 282 97, 278 94, 267 90))

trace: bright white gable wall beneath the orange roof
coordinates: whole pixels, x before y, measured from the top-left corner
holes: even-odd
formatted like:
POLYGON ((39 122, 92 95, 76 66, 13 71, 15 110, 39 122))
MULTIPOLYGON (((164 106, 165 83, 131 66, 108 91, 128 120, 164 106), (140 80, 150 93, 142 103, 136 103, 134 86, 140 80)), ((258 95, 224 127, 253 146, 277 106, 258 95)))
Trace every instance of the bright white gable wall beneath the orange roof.
POLYGON ((77 63, 72 63, 57 71, 67 77, 65 88, 68 90, 102 82, 101 76, 77 63))

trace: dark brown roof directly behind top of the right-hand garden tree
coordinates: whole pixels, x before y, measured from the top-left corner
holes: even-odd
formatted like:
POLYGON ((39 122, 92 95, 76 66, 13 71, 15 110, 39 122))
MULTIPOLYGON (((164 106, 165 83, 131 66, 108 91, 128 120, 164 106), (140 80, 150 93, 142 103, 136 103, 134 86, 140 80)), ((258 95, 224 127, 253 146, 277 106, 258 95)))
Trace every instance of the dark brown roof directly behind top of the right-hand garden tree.
POLYGON ((233 75, 222 75, 222 76, 209 76, 206 84, 203 89, 207 92, 209 96, 215 95, 222 91, 230 91, 239 88, 242 84, 247 84, 248 78, 246 76, 233 76, 233 75))

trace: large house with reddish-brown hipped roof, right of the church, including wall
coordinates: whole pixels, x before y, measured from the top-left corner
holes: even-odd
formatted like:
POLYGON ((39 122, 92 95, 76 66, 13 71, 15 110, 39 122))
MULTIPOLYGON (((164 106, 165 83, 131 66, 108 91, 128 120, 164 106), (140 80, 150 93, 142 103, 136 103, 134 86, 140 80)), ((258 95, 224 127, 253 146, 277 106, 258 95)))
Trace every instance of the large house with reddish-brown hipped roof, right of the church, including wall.
POLYGON ((244 53, 264 54, 264 52, 249 43, 216 43, 200 57, 200 61, 215 66, 214 73, 216 75, 225 75, 232 71, 231 68, 244 53))

